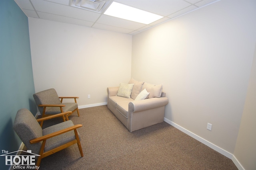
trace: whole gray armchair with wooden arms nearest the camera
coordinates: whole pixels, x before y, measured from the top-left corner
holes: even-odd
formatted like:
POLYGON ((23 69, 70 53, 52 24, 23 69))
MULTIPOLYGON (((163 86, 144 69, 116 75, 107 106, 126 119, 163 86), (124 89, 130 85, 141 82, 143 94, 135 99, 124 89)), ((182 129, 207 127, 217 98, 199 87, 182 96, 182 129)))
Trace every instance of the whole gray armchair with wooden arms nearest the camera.
POLYGON ((34 154, 40 155, 36 162, 37 166, 40 166, 42 158, 76 143, 81 157, 84 156, 80 144, 80 134, 77 131, 77 128, 82 127, 82 125, 74 125, 71 120, 68 120, 42 129, 38 123, 43 120, 69 114, 70 112, 71 111, 36 119, 28 109, 18 110, 13 129, 28 150, 31 150, 34 154))

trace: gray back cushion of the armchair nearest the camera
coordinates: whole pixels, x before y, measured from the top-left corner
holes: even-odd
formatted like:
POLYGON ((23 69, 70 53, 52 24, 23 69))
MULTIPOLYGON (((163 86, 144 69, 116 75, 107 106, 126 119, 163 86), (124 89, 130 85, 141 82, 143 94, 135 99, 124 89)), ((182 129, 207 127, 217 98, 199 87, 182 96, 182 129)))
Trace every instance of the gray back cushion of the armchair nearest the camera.
POLYGON ((32 150, 32 153, 39 154, 42 142, 30 144, 29 141, 41 137, 43 135, 42 128, 28 109, 18 110, 13 129, 28 150, 32 150))

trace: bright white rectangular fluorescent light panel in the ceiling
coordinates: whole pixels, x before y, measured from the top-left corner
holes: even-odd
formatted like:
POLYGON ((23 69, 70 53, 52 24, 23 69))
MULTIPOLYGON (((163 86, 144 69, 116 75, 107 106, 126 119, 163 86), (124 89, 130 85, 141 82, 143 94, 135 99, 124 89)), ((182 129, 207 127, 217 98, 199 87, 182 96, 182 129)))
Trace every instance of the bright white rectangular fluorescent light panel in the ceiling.
POLYGON ((144 24, 149 24, 163 18, 162 16, 158 16, 156 14, 152 14, 150 12, 139 10, 137 8, 133 8, 117 2, 112 2, 104 14, 144 24))

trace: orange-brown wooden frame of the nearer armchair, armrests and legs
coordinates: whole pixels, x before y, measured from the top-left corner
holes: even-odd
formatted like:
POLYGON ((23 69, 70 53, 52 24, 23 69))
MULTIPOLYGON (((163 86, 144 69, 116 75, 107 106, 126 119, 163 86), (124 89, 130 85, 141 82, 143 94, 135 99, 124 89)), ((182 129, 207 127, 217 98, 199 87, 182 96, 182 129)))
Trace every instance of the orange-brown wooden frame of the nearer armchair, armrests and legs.
MULTIPOLYGON (((42 121, 44 121, 44 120, 52 119, 52 118, 54 118, 54 117, 60 117, 60 116, 68 115, 68 114, 71 114, 71 113, 72 113, 71 111, 66 111, 66 112, 63 112, 63 113, 58 113, 58 114, 56 114, 56 115, 49 115, 49 116, 47 116, 47 117, 42 117, 42 118, 40 118, 40 119, 37 119, 37 121, 38 121, 38 122, 40 122, 40 121, 42 122, 42 121)), ((76 143, 77 143, 77 145, 78 145, 78 148, 79 148, 81 157, 84 157, 83 150, 82 150, 81 143, 80 143, 80 139, 79 139, 79 136, 78 136, 78 132, 77 132, 77 130, 76 130, 76 129, 79 128, 79 127, 82 127, 82 125, 81 125, 81 124, 74 125, 74 126, 72 126, 72 127, 68 127, 68 128, 62 129, 62 130, 60 130, 60 131, 56 131, 56 132, 54 132, 54 133, 50 133, 50 134, 48 134, 48 135, 44 135, 44 136, 42 136, 42 137, 38 137, 38 138, 36 138, 36 139, 30 140, 30 143, 31 143, 31 144, 38 143, 38 142, 42 141, 42 145, 41 145, 40 152, 39 152, 40 156, 38 157, 38 160, 37 160, 37 162, 36 162, 36 165, 37 165, 37 166, 40 166, 40 163, 41 163, 42 158, 44 158, 44 157, 46 157, 46 156, 49 156, 49 155, 51 155, 51 154, 54 154, 54 153, 56 153, 56 152, 58 152, 58 151, 60 151, 60 150, 62 150, 62 149, 65 149, 65 148, 67 148, 67 147, 69 147, 69 146, 71 146, 71 145, 74 145, 74 144, 76 144, 76 143), (68 131, 72 131, 72 130, 74 130, 74 133, 75 133, 75 136, 76 136, 76 139, 75 139, 75 140, 70 141, 69 143, 66 143, 66 144, 64 144, 64 145, 62 145, 62 146, 60 146, 60 147, 56 147, 56 148, 54 148, 54 149, 52 149, 52 150, 48 150, 47 152, 44 152, 44 147, 45 147, 45 144, 46 144, 46 140, 47 140, 47 139, 49 139, 49 138, 51 138, 51 137, 55 137, 55 136, 60 135, 60 134, 62 134, 62 133, 66 133, 66 132, 68 132, 68 131)))

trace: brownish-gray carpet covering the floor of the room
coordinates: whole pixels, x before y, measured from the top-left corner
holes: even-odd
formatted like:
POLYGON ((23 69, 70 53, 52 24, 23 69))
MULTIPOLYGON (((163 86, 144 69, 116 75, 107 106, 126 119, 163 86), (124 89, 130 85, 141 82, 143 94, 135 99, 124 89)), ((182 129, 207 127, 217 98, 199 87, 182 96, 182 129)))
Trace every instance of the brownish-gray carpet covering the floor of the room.
POLYGON ((72 145, 43 158, 40 170, 237 170, 232 160, 166 122, 130 133, 107 106, 79 110, 70 120, 83 125, 84 157, 72 145))

